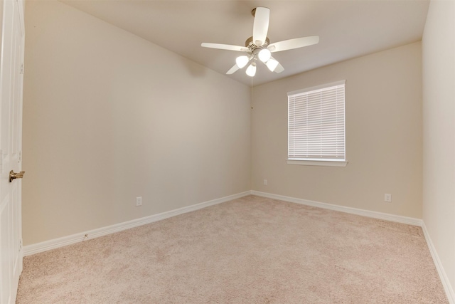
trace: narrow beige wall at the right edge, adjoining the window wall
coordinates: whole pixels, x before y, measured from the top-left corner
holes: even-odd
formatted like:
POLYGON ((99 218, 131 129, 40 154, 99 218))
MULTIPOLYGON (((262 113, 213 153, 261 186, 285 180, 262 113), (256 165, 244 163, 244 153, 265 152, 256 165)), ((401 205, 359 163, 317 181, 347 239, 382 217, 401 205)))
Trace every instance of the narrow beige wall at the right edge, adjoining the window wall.
POLYGON ((455 1, 432 1, 422 39, 423 219, 455 300, 455 1))

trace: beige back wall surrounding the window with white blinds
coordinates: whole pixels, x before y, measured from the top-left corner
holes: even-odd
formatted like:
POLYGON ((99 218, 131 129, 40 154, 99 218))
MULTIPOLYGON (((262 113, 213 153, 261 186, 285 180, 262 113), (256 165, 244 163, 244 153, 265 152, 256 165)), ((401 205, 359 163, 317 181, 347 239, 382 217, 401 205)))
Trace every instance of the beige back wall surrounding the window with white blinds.
POLYGON ((412 43, 255 87, 252 189, 421 218, 421 60, 412 43), (287 92, 344 79, 347 167, 287 164, 287 92))

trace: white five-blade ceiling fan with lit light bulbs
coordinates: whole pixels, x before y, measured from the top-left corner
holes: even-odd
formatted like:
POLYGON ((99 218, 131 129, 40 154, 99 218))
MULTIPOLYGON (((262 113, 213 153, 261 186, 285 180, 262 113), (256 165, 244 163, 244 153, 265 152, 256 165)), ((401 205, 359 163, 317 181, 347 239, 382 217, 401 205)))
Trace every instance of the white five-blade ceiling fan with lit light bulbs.
POLYGON ((237 57, 235 59, 235 65, 232 66, 226 74, 235 73, 237 70, 250 63, 246 73, 250 77, 253 77, 256 74, 256 62, 258 60, 265 63, 267 68, 272 72, 282 73, 284 68, 277 59, 272 57, 272 53, 287 51, 294 48, 303 48, 304 46, 311 46, 319 43, 319 36, 308 36, 270 43, 269 37, 267 37, 270 9, 267 7, 257 7, 251 11, 251 14, 255 17, 253 23, 253 36, 245 41, 245 46, 205 42, 200 44, 200 46, 203 46, 204 48, 219 48, 221 50, 247 53, 246 55, 237 57))

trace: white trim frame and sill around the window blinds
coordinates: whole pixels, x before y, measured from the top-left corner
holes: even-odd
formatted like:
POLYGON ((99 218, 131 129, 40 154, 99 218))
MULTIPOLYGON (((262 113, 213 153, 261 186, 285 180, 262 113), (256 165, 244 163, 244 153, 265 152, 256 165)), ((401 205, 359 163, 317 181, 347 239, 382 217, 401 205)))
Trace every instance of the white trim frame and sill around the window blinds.
POLYGON ((288 135, 287 135, 287 145, 288 145, 288 157, 287 157, 287 164, 300 164, 306 166, 329 166, 329 167, 346 167, 348 164, 348 160, 346 157, 346 80, 338 80, 333 83, 325 83, 322 85, 316 85, 309 88, 304 88, 301 90, 294 90, 287 93, 288 96, 288 135), (345 88, 345 96, 343 100, 343 107, 344 107, 344 159, 311 159, 311 158, 297 158, 297 157, 289 157, 289 96, 291 95, 298 95, 301 93, 311 92, 314 90, 321 90, 325 88, 331 88, 337 85, 344 85, 345 88))

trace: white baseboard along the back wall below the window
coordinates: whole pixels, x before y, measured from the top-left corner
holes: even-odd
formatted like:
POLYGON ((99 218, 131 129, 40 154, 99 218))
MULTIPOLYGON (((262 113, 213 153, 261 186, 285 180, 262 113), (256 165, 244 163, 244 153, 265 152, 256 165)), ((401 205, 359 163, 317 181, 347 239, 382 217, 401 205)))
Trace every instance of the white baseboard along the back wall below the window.
POLYGON ((270 193, 266 193, 266 192, 255 191, 255 190, 252 190, 251 194, 257 195, 257 196, 268 197, 270 199, 279 199, 281 201, 289 201, 291 203, 296 203, 296 204, 302 204, 302 205, 307 205, 307 206, 319 207, 319 208, 323 208, 323 209, 330 209, 330 210, 334 210, 334 211, 346 212, 349 214, 368 216, 368 217, 372 217, 374 219, 384 219, 386 221, 396 221, 396 222, 402 223, 402 224, 422 226, 422 219, 415 219, 415 218, 407 217, 407 216, 386 214, 386 213, 377 212, 377 211, 369 211, 369 210, 357 209, 357 208, 340 206, 340 205, 326 204, 326 203, 321 203, 319 201, 309 201, 308 199, 296 199, 295 197, 283 196, 283 195, 278 195, 278 194, 270 194, 270 193))

